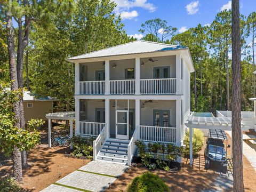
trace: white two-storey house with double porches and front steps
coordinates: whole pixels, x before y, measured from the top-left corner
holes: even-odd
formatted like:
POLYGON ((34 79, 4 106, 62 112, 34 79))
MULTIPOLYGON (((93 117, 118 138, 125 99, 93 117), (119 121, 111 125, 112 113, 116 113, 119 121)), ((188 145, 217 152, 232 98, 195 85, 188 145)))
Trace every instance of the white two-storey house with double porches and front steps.
POLYGON ((93 158, 130 164, 134 141, 181 146, 190 114, 187 47, 134 41, 75 63, 75 135, 93 135, 93 158))

